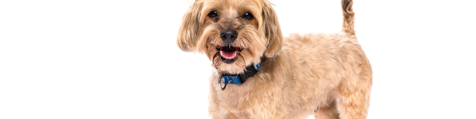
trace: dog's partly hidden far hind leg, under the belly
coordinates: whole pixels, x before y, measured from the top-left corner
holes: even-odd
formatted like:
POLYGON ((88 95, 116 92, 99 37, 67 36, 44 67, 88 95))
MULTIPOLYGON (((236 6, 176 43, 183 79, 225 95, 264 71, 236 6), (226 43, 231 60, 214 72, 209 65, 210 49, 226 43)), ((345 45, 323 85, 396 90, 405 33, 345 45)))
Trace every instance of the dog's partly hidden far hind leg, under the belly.
POLYGON ((336 99, 332 99, 326 105, 320 106, 314 113, 314 119, 339 119, 336 99))

